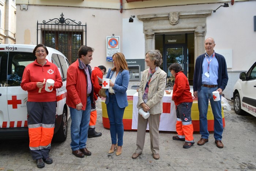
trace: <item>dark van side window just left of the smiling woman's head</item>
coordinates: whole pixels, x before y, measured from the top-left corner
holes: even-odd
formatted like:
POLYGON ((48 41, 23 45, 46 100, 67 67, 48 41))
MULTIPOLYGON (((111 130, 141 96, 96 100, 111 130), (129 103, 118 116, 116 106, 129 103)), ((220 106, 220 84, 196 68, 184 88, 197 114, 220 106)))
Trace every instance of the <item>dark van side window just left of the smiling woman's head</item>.
MULTIPOLYGON (((4 53, 4 52, 2 52, 4 53)), ((9 52, 9 60, 6 68, 7 85, 20 86, 25 67, 34 62, 36 57, 28 52, 9 52)))

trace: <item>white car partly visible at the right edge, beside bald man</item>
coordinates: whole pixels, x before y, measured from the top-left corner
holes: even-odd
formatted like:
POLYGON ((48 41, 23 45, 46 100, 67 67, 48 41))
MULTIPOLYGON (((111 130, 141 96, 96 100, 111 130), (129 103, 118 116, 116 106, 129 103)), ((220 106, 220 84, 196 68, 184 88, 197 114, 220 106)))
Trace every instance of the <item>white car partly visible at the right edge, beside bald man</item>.
POLYGON ((247 113, 256 117, 256 62, 245 73, 241 72, 233 88, 234 110, 237 114, 247 113))

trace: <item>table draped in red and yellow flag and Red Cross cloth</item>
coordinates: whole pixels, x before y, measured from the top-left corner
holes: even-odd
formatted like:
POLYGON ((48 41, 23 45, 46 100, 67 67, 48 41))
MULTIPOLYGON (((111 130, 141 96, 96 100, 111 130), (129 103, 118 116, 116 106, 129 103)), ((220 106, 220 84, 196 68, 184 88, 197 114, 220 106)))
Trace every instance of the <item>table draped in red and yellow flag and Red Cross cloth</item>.
MULTIPOLYGON (((191 90, 193 94, 193 90, 191 90)), ((138 92, 136 90, 127 90, 128 106, 124 110, 123 124, 124 130, 136 130, 138 126, 138 92)), ((163 96, 163 113, 160 118, 159 130, 161 131, 176 131, 176 110, 175 104, 172 101, 172 94, 164 94, 163 96)), ((108 113, 106 109, 105 100, 102 98, 102 123, 104 128, 110 128, 108 113)), ((199 111, 197 106, 197 99, 193 97, 193 104, 191 108, 191 118, 194 131, 199 131, 199 111)), ((214 117, 211 110, 211 104, 208 106, 208 131, 213 131, 214 117)), ((225 117, 222 109, 223 127, 225 127, 225 117)), ((148 126, 147 126, 148 130, 148 126)))

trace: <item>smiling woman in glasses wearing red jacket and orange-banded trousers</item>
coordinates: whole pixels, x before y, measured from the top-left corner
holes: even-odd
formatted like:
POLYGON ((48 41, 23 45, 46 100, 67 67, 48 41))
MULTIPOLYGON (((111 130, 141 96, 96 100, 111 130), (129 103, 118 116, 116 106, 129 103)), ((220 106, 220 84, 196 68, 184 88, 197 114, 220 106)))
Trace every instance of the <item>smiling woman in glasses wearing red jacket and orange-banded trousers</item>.
POLYGON ((27 65, 22 76, 21 88, 28 92, 27 123, 29 127, 29 148, 37 167, 51 164, 49 157, 55 126, 56 88, 62 86, 57 66, 46 59, 48 50, 43 44, 35 46, 33 54, 37 59, 27 65), (54 80, 53 90, 45 90, 47 79, 54 80))

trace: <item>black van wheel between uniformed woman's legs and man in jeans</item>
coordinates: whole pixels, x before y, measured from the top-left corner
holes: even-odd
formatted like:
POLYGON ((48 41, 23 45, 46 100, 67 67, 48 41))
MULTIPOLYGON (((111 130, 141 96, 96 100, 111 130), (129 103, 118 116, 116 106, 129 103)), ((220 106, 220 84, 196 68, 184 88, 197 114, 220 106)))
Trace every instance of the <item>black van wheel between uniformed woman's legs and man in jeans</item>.
POLYGON ((64 108, 62 113, 62 121, 60 124, 60 128, 56 134, 53 136, 54 142, 63 142, 67 138, 68 133, 68 120, 67 120, 67 111, 64 108))

